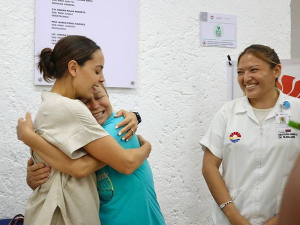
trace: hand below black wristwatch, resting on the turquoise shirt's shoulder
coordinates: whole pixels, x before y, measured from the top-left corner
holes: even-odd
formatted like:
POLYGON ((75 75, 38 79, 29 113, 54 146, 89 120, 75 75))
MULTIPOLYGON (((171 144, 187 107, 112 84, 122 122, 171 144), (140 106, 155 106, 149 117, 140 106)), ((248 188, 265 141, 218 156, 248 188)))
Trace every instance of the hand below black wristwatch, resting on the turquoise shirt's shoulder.
POLYGON ((133 134, 137 131, 138 120, 136 115, 133 112, 127 112, 126 110, 120 110, 116 113, 115 117, 123 116, 124 120, 120 122, 116 128, 124 126, 120 131, 119 135, 125 133, 122 137, 122 140, 130 140, 133 137, 133 134))

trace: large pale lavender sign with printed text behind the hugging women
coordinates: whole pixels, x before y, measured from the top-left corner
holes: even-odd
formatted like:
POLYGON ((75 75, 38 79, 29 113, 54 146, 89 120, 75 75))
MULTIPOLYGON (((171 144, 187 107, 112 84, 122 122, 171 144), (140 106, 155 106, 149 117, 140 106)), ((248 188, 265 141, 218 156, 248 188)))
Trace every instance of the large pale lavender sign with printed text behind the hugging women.
MULTIPOLYGON (((94 40, 108 87, 137 86, 138 0, 36 0, 35 67, 43 48, 68 35, 94 40)), ((52 85, 35 69, 35 85, 52 85)))

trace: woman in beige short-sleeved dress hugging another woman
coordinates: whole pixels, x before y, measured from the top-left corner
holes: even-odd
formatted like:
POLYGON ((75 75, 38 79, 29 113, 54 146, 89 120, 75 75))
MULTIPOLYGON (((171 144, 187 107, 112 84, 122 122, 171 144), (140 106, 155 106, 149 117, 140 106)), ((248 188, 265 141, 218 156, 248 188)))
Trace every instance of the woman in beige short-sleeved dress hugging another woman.
POLYGON ((34 161, 48 163, 52 171, 48 182, 29 197, 25 224, 100 224, 93 172, 107 164, 130 174, 148 157, 151 145, 139 137, 140 148, 124 151, 76 100, 92 98, 104 81, 104 56, 95 42, 83 36, 67 36, 53 51, 42 50, 38 66, 45 80, 56 80, 50 92, 42 93, 34 121, 36 132, 29 113, 25 121, 19 119, 17 132, 18 138, 33 150, 34 161), (62 172, 56 170, 60 160, 57 156, 68 162, 62 172), (74 168, 78 167, 81 169, 77 173, 74 168))

